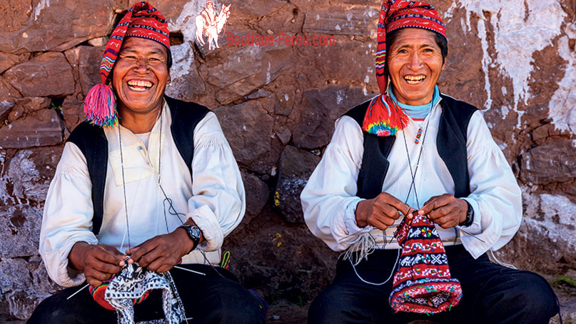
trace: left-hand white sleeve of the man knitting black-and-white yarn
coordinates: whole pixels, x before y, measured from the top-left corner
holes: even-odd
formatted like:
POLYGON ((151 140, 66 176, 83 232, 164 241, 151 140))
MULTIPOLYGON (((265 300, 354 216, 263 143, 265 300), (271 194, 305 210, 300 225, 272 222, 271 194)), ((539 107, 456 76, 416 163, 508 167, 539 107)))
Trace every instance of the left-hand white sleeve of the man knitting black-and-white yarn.
POLYGON ((84 274, 68 267, 72 246, 98 243, 91 231, 91 190, 86 158, 78 146, 66 143, 46 196, 39 249, 50 278, 64 287, 84 282, 84 274))

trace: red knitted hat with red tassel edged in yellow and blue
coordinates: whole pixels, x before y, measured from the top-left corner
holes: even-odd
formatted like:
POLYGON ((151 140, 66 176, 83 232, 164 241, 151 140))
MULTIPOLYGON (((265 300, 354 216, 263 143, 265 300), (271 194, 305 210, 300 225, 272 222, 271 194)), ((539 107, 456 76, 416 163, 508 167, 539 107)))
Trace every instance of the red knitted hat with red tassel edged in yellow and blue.
POLYGON ((378 47, 376 49, 376 81, 380 96, 373 99, 364 116, 362 129, 377 136, 393 136, 410 119, 388 95, 386 72, 386 34, 403 28, 421 28, 444 37, 444 22, 433 6, 420 1, 385 0, 378 20, 378 47))

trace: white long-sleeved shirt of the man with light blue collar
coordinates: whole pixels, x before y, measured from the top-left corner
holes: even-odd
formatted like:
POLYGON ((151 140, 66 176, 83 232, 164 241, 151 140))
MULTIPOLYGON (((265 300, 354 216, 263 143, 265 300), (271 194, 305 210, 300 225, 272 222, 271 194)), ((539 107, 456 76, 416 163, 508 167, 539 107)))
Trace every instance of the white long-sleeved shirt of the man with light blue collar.
MULTIPOLYGON (((441 113, 439 101, 423 122, 410 120, 403 131, 396 133, 396 141, 388 156, 390 167, 382 192, 390 193, 416 209, 433 196, 455 192, 453 178, 436 147, 441 113), (423 135, 420 143, 415 143, 420 126, 423 135), (412 183, 408 156, 415 171, 422 147, 415 176, 416 190, 413 188, 408 196, 412 183)), ((476 111, 470 118, 466 150, 471 193, 464 199, 474 210, 474 222, 467 231, 484 243, 456 228, 436 228, 445 245, 462 243, 474 258, 478 258, 487 250, 497 250, 512 239, 522 220, 522 196, 510 165, 492 139, 481 111, 476 111)), ((355 196, 363 153, 363 133, 358 123, 348 116, 339 118, 322 160, 300 195, 306 225, 313 235, 333 250, 350 248, 366 233, 375 238, 377 248, 398 248, 393 233, 402 218, 386 231, 372 226, 360 228, 356 223, 355 209, 363 200, 355 196)))

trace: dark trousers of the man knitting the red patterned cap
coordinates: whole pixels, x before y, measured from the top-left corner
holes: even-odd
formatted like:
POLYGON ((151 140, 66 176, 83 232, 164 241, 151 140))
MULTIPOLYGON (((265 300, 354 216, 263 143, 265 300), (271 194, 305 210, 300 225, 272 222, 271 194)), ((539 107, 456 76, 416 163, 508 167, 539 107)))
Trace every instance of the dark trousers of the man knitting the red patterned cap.
MULTIPOLYGON (((381 283, 390 275, 398 250, 376 250, 356 266, 359 275, 381 283)), ((446 247, 453 278, 460 280, 463 298, 452 310, 437 315, 393 313, 388 298, 392 281, 375 286, 363 283, 350 261, 338 260, 336 277, 314 300, 309 324, 408 323, 518 323, 547 324, 559 311, 557 298, 547 281, 530 271, 492 263, 487 255, 472 258, 462 245, 446 247)))

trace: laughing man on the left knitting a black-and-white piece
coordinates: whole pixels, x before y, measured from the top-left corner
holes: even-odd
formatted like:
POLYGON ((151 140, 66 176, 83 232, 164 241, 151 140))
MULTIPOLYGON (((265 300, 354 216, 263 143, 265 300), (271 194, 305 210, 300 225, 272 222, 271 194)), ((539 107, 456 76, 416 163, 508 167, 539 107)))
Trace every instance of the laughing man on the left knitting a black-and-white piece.
POLYGON ((70 288, 29 323, 264 323, 259 300, 212 266, 243 218, 243 183, 216 115, 165 96, 171 62, 166 19, 134 4, 46 197, 40 253, 70 288))

